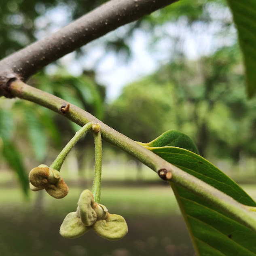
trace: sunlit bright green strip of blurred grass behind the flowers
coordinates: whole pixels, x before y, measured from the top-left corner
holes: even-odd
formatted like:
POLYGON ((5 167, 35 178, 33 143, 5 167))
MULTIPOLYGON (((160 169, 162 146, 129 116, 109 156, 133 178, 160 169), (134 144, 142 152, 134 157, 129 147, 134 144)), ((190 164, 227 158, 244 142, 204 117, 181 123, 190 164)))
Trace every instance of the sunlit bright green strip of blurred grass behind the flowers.
MULTIPOLYGON (((50 215, 66 215, 76 210, 80 193, 85 188, 70 187, 70 192, 63 199, 54 199, 44 190, 43 205, 50 215)), ((0 205, 2 208, 14 207, 24 212, 35 204, 40 192, 30 192, 30 200, 24 200, 19 188, 0 188, 0 205)), ((110 213, 123 216, 168 216, 179 214, 176 199, 171 188, 166 186, 142 187, 103 187, 101 203, 106 205, 110 213)), ((1 211, 1 210, 0 210, 1 211)))

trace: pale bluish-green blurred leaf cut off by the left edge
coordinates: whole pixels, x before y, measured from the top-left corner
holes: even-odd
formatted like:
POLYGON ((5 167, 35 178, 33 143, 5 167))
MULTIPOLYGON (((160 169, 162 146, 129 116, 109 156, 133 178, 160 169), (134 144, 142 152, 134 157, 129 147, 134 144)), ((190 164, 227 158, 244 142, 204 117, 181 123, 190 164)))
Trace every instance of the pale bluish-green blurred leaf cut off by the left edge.
POLYGON ((0 137, 11 140, 13 136, 13 114, 10 110, 0 109, 0 137))

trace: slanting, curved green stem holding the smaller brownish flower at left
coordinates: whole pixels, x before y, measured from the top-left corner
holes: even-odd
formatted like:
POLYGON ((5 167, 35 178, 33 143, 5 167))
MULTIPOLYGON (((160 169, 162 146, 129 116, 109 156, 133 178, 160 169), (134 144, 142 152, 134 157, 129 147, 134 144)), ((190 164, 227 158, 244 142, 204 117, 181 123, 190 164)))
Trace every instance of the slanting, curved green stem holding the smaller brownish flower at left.
POLYGON ((87 132, 89 129, 91 129, 92 123, 87 123, 84 125, 79 131, 76 132, 74 137, 68 142, 68 144, 61 150, 55 161, 51 164, 50 169, 55 169, 57 171, 60 170, 61 165, 63 164, 63 161, 66 159, 68 153, 70 150, 76 145, 78 140, 87 132))

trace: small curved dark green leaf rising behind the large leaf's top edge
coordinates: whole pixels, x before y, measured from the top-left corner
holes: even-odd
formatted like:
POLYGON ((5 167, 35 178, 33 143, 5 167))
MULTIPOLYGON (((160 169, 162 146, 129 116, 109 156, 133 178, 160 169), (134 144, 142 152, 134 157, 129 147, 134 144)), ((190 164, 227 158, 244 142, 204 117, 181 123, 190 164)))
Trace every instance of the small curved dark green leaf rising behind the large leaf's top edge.
POLYGON ((176 131, 176 130, 169 130, 161 134, 156 139, 152 140, 148 143, 140 143, 143 146, 148 147, 166 147, 166 146, 172 146, 172 147, 179 147, 179 148, 186 148, 189 151, 194 152, 195 154, 199 154, 197 146, 191 140, 188 135, 176 131))

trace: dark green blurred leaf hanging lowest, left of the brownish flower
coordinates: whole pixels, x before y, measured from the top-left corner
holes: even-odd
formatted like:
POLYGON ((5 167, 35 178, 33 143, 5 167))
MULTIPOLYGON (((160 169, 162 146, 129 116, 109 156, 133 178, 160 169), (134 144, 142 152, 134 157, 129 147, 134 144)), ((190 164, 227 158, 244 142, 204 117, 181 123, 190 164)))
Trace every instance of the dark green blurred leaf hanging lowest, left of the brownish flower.
POLYGON ((3 140, 3 156, 8 162, 8 164, 17 173, 19 183, 21 184, 24 194, 28 197, 28 174, 25 172, 23 167, 22 158, 19 151, 14 144, 8 140, 3 140))

